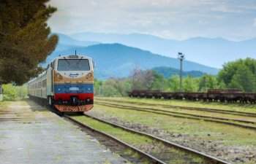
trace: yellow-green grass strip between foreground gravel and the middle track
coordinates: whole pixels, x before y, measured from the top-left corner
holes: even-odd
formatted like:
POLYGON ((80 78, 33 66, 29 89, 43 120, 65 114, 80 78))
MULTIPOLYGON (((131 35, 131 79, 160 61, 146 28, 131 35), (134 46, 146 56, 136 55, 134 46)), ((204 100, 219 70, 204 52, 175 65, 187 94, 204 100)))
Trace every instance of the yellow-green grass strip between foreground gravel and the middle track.
POLYGON ((254 145, 256 146, 256 132, 232 125, 206 122, 203 120, 191 120, 177 117, 136 112, 132 110, 115 109, 108 106, 95 105, 91 112, 103 114, 105 117, 116 117, 120 120, 138 122, 148 127, 167 130, 170 133, 181 133, 192 138, 221 141, 228 145, 254 145), (208 136, 210 134, 210 136, 208 136))

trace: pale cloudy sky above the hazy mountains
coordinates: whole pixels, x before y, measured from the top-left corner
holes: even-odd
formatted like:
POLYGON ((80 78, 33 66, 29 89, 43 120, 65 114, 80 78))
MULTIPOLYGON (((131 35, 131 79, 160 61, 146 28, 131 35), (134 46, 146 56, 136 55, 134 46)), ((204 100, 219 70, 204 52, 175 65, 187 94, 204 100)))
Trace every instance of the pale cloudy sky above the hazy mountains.
POLYGON ((53 32, 151 34, 184 40, 256 37, 255 0, 50 0, 53 32))

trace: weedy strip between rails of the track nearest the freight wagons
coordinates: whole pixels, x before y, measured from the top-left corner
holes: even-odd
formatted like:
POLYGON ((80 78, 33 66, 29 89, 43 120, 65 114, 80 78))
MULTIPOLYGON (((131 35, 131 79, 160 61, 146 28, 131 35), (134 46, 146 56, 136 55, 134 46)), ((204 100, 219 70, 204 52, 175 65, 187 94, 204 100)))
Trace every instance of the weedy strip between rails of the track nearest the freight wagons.
POLYGON ((187 109, 187 110, 195 110, 195 111, 206 111, 206 112, 216 112, 216 113, 223 113, 223 114, 233 114, 238 116, 247 116, 247 117, 256 117, 255 113, 249 112, 238 112, 238 111, 231 111, 227 109, 211 109, 211 108, 198 108, 198 107, 190 107, 190 106, 172 106, 172 105, 165 105, 165 104, 149 104, 149 103, 139 103, 134 101, 118 101, 118 100, 110 100, 110 99, 98 99, 97 101, 112 101, 117 103, 124 103, 124 104, 137 104, 143 106, 162 106, 172 109, 187 109))

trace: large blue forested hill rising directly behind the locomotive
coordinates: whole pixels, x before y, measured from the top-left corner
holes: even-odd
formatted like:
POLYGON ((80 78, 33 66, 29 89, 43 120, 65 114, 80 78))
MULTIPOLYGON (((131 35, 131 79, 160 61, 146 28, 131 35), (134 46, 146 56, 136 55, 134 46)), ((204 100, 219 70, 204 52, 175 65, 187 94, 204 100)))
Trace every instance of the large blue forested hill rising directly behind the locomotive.
MULTIPOLYGON (((128 77, 136 67, 143 70, 159 66, 179 68, 177 58, 168 58, 122 44, 96 44, 89 47, 72 47, 68 50, 55 51, 48 57, 48 62, 59 55, 72 55, 75 50, 79 55, 89 55, 94 59, 97 64, 95 74, 99 79, 128 77)), ((217 74, 218 69, 184 60, 184 71, 203 71, 209 74, 217 74)))

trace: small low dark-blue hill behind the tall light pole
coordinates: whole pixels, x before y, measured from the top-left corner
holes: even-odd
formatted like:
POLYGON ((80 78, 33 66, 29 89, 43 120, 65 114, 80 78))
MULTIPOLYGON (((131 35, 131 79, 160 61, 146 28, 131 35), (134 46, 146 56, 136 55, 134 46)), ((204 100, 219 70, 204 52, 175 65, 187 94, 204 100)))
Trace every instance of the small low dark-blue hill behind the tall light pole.
MULTIPOLYGON (((171 67, 166 67, 166 66, 160 66, 153 68, 152 70, 157 71, 158 74, 162 74, 165 78, 169 78, 173 75, 178 75, 180 74, 179 69, 173 69, 171 67)), ((206 73, 203 73, 202 71, 182 71, 182 76, 187 77, 203 77, 203 75, 206 73)))

